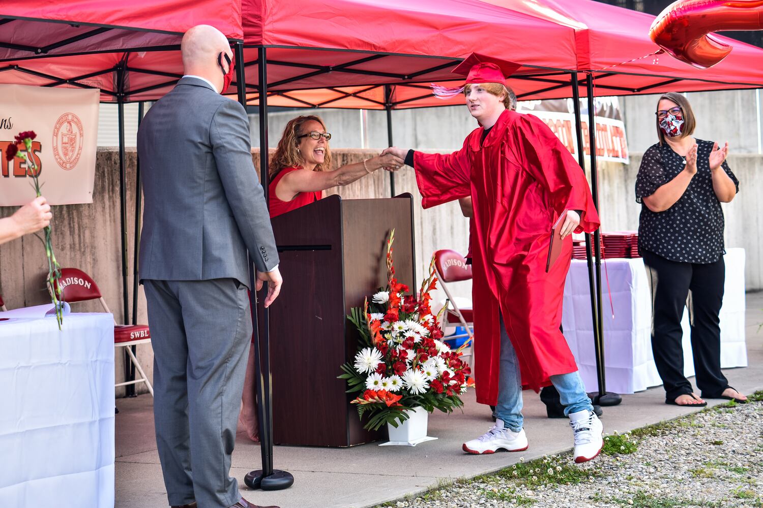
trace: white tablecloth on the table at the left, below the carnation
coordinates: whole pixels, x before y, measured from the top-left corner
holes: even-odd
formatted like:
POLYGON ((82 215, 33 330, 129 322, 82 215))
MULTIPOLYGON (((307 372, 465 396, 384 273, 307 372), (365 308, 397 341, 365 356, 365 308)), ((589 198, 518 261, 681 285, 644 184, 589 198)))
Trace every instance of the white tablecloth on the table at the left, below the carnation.
POLYGON ((111 314, 0 321, 0 450, 0 506, 113 508, 111 314))

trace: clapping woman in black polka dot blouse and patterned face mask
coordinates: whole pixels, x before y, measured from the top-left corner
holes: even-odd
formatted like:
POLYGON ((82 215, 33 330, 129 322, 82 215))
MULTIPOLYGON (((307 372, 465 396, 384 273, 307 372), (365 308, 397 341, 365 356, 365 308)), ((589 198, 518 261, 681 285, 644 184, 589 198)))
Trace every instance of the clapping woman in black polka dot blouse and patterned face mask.
POLYGON ((684 377, 681 317, 691 317, 691 347, 703 398, 747 398, 720 370, 718 313, 723 301, 723 210, 739 192, 726 164, 729 144, 694 139, 694 113, 674 92, 660 97, 658 143, 644 152, 636 201, 642 203, 639 251, 652 288, 652 352, 665 403, 704 406, 684 377))

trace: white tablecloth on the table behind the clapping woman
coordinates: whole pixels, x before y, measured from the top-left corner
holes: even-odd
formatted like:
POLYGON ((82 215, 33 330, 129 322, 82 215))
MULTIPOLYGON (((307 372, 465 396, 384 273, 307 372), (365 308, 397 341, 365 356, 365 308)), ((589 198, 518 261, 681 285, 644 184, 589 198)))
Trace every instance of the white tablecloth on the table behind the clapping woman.
MULTIPOLYGON (((745 250, 726 252, 726 287, 720 311, 721 367, 747 366, 745 345, 745 250)), ((662 385, 652 356, 652 312, 642 259, 610 259, 601 267, 607 391, 629 394, 662 385), (607 293, 607 273, 613 305, 607 293), (614 308, 614 318, 612 317, 614 308)), ((565 284, 562 326, 587 391, 597 391, 588 266, 572 260, 565 284)), ((688 312, 684 311, 684 374, 694 375, 688 312)))

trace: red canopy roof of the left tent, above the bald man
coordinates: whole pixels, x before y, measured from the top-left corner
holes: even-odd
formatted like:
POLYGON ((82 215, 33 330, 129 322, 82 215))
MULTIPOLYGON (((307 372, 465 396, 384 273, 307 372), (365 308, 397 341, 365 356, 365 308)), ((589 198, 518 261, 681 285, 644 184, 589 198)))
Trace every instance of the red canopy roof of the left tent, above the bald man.
POLYGON ((0 6, 0 83, 101 88, 117 101, 156 100, 182 76, 185 30, 211 24, 242 40, 240 0, 28 0, 0 6))

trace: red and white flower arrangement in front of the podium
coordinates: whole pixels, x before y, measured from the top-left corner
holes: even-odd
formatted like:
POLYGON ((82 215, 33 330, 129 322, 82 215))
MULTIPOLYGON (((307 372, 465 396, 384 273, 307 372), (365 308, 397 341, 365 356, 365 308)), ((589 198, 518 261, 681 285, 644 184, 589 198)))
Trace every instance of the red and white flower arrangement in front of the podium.
POLYGON ((385 423, 398 427, 407 410, 423 407, 449 413, 462 407, 471 369, 461 349, 452 351, 441 341, 439 315, 432 314, 431 292, 436 288, 434 259, 421 284, 420 299, 405 295, 392 263, 394 230, 387 241, 388 285, 371 302, 353 308, 348 316, 359 332, 360 350, 352 363, 342 366, 348 393, 362 392, 352 401, 359 417, 372 414, 365 429, 378 430, 385 423))

